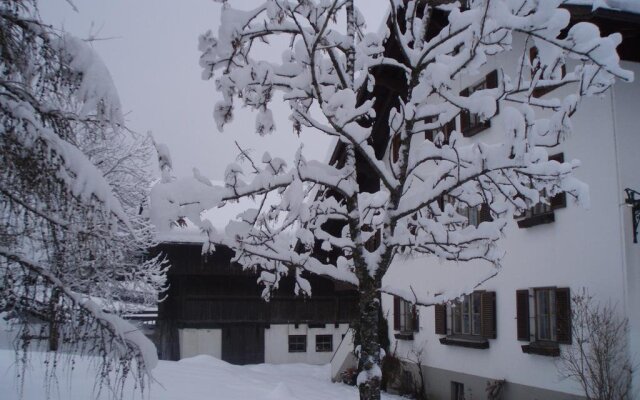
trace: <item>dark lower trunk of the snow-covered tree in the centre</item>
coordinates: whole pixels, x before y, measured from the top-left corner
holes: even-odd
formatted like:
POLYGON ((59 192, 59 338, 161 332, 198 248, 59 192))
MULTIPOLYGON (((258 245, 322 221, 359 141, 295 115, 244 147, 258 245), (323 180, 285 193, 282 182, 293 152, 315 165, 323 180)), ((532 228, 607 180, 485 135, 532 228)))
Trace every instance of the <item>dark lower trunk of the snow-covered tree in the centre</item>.
POLYGON ((380 284, 371 277, 360 281, 360 354, 358 357, 358 389, 360 400, 380 399, 380 340, 378 323, 380 284))

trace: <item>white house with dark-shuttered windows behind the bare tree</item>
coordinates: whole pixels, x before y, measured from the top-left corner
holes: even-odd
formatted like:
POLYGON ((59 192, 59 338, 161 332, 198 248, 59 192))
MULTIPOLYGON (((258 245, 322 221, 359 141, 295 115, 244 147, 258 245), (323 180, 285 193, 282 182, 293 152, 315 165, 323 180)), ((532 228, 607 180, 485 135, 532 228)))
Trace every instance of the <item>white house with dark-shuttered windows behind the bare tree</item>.
MULTIPOLYGON (((625 42, 619 50, 628 60, 622 66, 638 77, 640 14, 631 12, 637 4, 628 4, 622 11, 592 12, 585 6, 572 8, 572 13, 597 23, 603 32, 621 30, 625 42)), ((486 66, 485 73, 514 68, 515 59, 509 57, 519 54, 523 45, 514 38, 515 51, 486 66)), ((481 82, 462 81, 460 91, 481 82)), ((629 319, 628 351, 636 364, 640 362, 640 243, 633 242, 632 211, 625 205, 624 191, 640 191, 639 104, 637 78, 583 100, 572 118, 573 136, 549 154, 582 161, 576 176, 589 185, 590 207, 567 199, 566 205, 556 201, 554 207, 538 206, 514 220, 501 243, 506 250, 503 269, 461 298, 468 308, 419 307, 415 327, 408 312, 411 306, 397 300, 394 306, 392 296, 383 295, 391 350, 409 360, 416 360, 416 351, 423 350, 419 362, 430 399, 486 399, 488 382, 499 380, 506 382, 503 399, 582 398, 579 385, 561 379, 557 369, 558 352, 569 346, 570 296, 582 288, 595 300, 616 305, 629 319)), ((501 118, 498 114, 491 126, 479 127, 471 140, 501 140, 501 118)), ((458 120, 458 130, 465 129, 461 124, 458 120)), ((488 268, 481 263, 396 258, 383 285, 410 281, 414 290, 431 294, 443 289, 468 292, 488 268)), ((637 372, 633 384, 640 396, 637 372)))

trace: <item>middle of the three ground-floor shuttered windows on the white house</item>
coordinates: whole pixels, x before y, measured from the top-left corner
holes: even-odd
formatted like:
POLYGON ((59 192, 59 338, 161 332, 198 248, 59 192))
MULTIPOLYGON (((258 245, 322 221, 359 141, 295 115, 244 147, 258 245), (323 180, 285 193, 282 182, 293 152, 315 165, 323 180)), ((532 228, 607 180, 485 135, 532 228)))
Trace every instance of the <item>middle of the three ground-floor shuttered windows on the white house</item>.
POLYGON ((487 339, 496 335, 496 293, 477 291, 450 305, 435 306, 436 334, 441 344, 489 348, 487 339))

